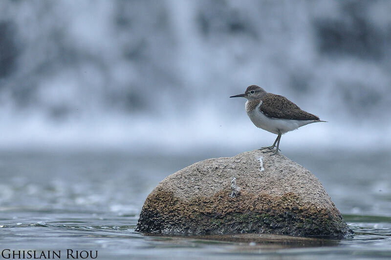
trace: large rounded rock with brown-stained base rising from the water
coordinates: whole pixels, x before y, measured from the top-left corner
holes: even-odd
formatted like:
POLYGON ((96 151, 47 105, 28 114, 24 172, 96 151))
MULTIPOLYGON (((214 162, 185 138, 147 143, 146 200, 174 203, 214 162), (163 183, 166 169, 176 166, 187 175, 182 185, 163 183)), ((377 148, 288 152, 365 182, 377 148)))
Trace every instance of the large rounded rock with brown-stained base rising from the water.
POLYGON ((352 235, 319 180, 281 154, 259 150, 196 162, 162 180, 137 231, 163 234, 352 235))

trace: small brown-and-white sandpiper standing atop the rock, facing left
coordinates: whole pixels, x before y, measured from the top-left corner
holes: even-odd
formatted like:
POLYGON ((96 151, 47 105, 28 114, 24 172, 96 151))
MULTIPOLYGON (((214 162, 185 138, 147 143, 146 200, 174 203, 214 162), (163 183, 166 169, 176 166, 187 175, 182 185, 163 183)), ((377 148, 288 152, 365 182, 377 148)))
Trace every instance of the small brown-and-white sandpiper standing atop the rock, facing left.
POLYGON ((247 99, 247 115, 257 127, 278 135, 271 146, 260 148, 260 150, 268 149, 266 153, 274 152, 271 155, 278 153, 282 134, 306 124, 326 122, 320 120, 318 116, 301 110, 300 107, 287 98, 267 93, 263 88, 256 85, 249 86, 244 94, 230 98, 239 97, 247 99))

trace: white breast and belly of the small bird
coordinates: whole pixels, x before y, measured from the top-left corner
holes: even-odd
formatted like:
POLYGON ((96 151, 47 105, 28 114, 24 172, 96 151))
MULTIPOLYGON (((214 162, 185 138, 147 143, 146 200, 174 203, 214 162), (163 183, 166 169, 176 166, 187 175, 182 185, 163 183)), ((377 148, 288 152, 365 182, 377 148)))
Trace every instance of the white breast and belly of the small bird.
POLYGON ((250 120, 259 128, 266 130, 270 133, 278 135, 279 133, 285 134, 286 132, 295 130, 303 125, 316 122, 316 120, 293 120, 293 119, 274 119, 264 115, 259 105, 252 111, 248 111, 248 101, 246 102, 246 111, 250 120))

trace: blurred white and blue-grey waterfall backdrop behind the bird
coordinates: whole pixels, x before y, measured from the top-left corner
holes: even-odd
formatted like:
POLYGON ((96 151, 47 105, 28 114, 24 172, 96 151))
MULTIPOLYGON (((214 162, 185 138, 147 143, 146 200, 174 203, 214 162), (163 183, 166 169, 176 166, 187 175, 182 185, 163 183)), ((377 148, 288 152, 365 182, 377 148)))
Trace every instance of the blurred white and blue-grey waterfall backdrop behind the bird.
POLYGON ((2 1, 0 147, 272 144, 251 84, 327 123, 281 149, 390 150, 391 1, 2 1))

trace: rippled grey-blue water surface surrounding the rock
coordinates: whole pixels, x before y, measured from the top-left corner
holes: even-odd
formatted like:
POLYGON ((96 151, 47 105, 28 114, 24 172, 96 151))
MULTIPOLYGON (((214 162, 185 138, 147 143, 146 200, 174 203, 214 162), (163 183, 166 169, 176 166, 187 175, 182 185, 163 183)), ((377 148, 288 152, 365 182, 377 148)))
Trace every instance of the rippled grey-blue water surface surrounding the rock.
POLYGON ((368 259, 391 257, 390 152, 286 151, 324 184, 354 238, 251 243, 134 232, 167 175, 239 151, 135 155, 125 150, 2 151, 1 250, 97 250, 98 259, 368 259))

